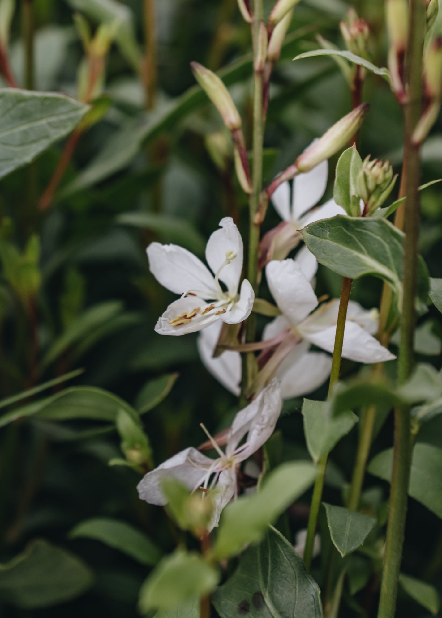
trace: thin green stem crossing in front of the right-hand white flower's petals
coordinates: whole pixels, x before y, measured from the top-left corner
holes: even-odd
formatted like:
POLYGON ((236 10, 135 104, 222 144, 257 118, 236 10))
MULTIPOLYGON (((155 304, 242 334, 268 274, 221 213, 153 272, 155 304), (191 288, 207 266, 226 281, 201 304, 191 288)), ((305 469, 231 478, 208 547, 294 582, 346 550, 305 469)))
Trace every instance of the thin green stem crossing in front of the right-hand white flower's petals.
MULTIPOLYGON (((329 397, 334 385, 339 380, 340 359, 342 357, 342 345, 344 344, 345 320, 347 320, 347 308, 349 307, 350 292, 352 290, 352 279, 344 277, 342 290, 340 292, 339 311, 337 314, 336 336, 334 339, 333 360, 329 382, 329 397)), ((318 523, 319 507, 323 497, 324 478, 327 468, 327 455, 323 455, 318 461, 318 475, 314 482, 313 497, 311 499, 310 515, 308 517, 307 537, 304 549, 304 564, 310 570, 311 559, 313 557, 314 533, 318 523)))

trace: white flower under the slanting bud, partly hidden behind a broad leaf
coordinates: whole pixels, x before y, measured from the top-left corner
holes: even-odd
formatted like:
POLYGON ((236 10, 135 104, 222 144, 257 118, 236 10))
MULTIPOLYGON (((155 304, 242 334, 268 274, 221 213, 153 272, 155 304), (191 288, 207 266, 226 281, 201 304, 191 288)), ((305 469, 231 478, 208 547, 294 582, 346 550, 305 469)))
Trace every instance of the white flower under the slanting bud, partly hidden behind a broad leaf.
POLYGON ((279 226, 264 234, 259 246, 259 266, 271 260, 284 260, 302 240, 299 232, 319 219, 328 219, 336 214, 347 214, 334 200, 314 208, 323 197, 327 186, 328 161, 319 163, 310 172, 299 174, 292 182, 283 182, 273 193, 271 200, 283 220, 279 226))

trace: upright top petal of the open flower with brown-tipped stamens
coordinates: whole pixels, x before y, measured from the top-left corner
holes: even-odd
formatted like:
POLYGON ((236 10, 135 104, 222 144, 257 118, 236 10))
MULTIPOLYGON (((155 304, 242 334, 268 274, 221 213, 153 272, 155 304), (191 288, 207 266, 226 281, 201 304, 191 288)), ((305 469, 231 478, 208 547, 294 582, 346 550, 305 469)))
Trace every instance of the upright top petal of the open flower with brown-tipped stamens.
POLYGON ((214 274, 225 261, 227 251, 236 253, 236 258, 222 269, 220 281, 223 281, 230 294, 238 292, 241 271, 243 269, 243 239, 232 217, 224 217, 220 221, 220 230, 214 232, 206 245, 206 260, 214 274))

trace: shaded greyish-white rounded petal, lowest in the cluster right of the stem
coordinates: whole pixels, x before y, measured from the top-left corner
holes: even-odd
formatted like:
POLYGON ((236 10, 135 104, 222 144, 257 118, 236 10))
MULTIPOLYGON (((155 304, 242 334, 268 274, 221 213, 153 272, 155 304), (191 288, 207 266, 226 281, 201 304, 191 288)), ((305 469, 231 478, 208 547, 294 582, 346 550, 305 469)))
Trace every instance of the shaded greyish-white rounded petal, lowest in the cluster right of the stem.
POLYGON ((300 397, 316 391, 330 375, 331 364, 332 359, 328 354, 307 352, 282 375, 278 371, 282 398, 300 397))

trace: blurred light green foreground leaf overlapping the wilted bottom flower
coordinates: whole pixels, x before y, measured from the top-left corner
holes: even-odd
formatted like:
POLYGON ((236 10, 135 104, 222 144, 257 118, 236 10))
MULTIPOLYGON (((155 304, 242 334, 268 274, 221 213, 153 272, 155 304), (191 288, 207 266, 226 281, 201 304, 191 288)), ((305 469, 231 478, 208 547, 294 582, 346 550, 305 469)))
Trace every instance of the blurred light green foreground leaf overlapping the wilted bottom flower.
POLYGON ((267 525, 308 489, 316 468, 308 462, 282 464, 264 477, 258 493, 241 496, 222 512, 214 546, 216 559, 235 556, 248 543, 258 543, 267 525))

